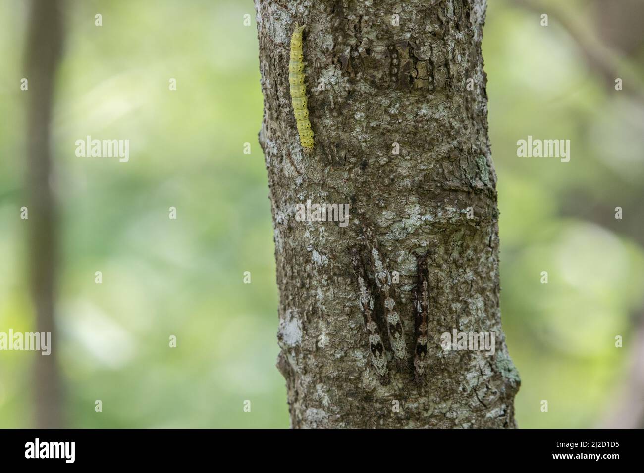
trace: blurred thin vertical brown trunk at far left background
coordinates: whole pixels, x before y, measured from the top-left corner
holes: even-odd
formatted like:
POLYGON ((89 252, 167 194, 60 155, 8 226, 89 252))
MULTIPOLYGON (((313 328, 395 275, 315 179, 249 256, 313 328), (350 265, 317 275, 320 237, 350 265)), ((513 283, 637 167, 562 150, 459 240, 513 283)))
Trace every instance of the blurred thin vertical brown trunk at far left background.
POLYGON ((51 332, 53 340, 51 354, 39 354, 35 361, 36 425, 44 429, 62 427, 61 380, 57 367, 54 323, 56 209, 50 187, 50 119, 62 37, 61 1, 33 0, 25 50, 29 81, 26 188, 29 195, 30 275, 36 330, 51 332))

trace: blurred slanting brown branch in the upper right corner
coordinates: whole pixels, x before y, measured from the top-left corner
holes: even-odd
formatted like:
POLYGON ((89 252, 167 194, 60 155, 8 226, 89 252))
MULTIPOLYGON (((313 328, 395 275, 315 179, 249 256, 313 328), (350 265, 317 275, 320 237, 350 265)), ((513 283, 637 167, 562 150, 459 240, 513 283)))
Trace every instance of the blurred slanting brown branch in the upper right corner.
POLYGON ((614 86, 618 77, 623 80, 623 92, 634 98, 644 108, 644 82, 632 70, 628 60, 621 53, 601 42, 589 32, 582 20, 567 13, 559 4, 551 5, 538 0, 512 0, 509 5, 519 5, 537 14, 547 14, 570 35, 589 68, 614 86))

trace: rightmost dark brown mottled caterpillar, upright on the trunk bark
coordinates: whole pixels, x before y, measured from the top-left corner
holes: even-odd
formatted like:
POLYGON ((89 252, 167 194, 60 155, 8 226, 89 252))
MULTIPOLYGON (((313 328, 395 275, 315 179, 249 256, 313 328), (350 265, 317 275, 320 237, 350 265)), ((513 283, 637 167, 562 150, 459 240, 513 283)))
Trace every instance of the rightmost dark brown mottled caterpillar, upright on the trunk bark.
POLYGON ((425 256, 417 256, 417 284, 414 291, 416 346, 413 349, 413 368, 416 382, 422 382, 427 365, 427 324, 430 308, 430 288, 425 256))

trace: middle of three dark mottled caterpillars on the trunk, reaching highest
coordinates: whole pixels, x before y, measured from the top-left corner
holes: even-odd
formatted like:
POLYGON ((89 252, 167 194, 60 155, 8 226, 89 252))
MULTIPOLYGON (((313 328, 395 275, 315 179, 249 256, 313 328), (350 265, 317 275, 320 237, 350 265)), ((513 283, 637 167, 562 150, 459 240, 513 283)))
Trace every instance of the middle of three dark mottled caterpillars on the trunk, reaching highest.
POLYGON ((392 346, 393 355, 398 358, 400 362, 404 362, 407 358, 406 344, 404 341, 404 328, 403 320, 397 310, 395 310, 395 291, 392 285, 392 277, 387 266, 384 263, 383 255, 381 254, 378 243, 375 240, 374 230, 363 223, 364 239, 366 248, 369 251, 372 261, 372 269, 374 270, 375 284, 383 296, 385 322, 387 324, 387 331, 389 333, 389 342, 392 346))

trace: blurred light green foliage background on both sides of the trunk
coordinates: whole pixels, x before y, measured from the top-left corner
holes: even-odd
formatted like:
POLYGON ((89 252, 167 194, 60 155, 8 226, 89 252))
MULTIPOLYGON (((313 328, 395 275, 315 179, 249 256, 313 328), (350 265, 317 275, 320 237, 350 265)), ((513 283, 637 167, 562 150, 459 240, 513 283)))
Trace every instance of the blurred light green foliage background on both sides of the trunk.
MULTIPOLYGON (((28 221, 19 219, 27 6, 0 0, 0 331, 35 329, 28 221)), ((289 425, 274 366, 258 44, 244 14, 254 21, 250 1, 68 1, 52 133, 62 232, 55 342, 70 427, 289 425), (129 162, 77 158, 75 140, 88 134, 129 138, 129 162)), ((605 224, 614 207, 641 198, 642 109, 589 70, 554 19, 544 28, 535 12, 503 1, 489 3, 487 17, 501 304, 522 377, 518 422, 592 427, 629 375, 629 334, 642 310, 644 254, 633 230, 641 228, 626 224, 635 210, 625 207, 624 229, 605 224), (571 162, 517 158, 516 140, 528 134, 570 139, 571 162), (625 348, 614 347, 615 335, 625 348)), ((0 427, 29 425, 35 356, 0 353, 0 427)))

